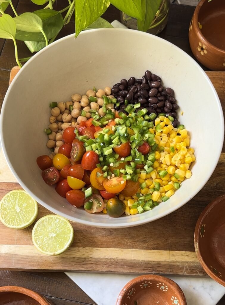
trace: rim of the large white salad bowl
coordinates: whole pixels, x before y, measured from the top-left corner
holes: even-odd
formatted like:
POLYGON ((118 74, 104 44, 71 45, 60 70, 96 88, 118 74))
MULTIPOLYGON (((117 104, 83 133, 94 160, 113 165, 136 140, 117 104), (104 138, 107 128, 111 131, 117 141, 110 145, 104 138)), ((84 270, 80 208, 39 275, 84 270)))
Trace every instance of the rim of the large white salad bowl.
MULTIPOLYGON (((40 200, 31 190, 29 190, 27 188, 27 186, 25 185, 25 183, 23 183, 23 181, 20 179, 19 175, 15 172, 12 163, 9 160, 9 157, 7 155, 7 151, 6 151, 6 147, 5 147, 5 143, 4 143, 4 137, 3 137, 3 120, 0 119, 0 138, 1 138, 1 144, 2 144, 2 150, 6 159, 6 162, 9 166, 9 168, 11 169, 13 175, 16 177, 17 181, 19 182, 19 184, 22 186, 22 188, 31 196, 33 197, 38 203, 40 203, 42 206, 44 206, 46 209, 50 210, 51 212, 60 215, 62 217, 65 217, 66 219, 73 221, 73 222, 77 222, 80 224, 84 224, 84 225, 88 225, 91 227, 97 227, 97 228, 128 228, 128 227, 134 227, 137 225, 141 225, 141 224, 146 224, 155 220, 158 220, 174 211, 176 211, 177 209, 179 209, 181 206, 183 206, 185 203, 187 203, 189 200, 191 200, 191 198, 193 198, 202 188, 203 186, 207 183, 207 181, 209 180, 209 178, 211 177, 211 175, 213 174, 216 165, 220 159, 220 154, 223 148, 223 138, 224 138, 224 118, 223 118, 223 110, 222 110, 222 106, 220 103, 220 99, 217 95, 216 89, 214 88, 212 82, 210 81, 209 77, 207 76, 207 74, 205 73, 205 71, 201 68, 201 66, 199 66, 199 64, 195 61, 195 59, 193 59, 190 55, 188 55, 186 52, 184 52, 182 49, 180 49, 179 47, 177 47, 176 45, 172 44, 171 42, 160 38, 158 36, 149 34, 149 33, 145 33, 145 32, 141 32, 138 30, 131 30, 131 29, 122 29, 122 28, 102 28, 102 29, 92 29, 92 30, 87 30, 87 31, 83 31, 81 32, 79 35, 88 35, 89 33, 95 33, 95 32, 110 32, 110 31, 117 31, 118 33, 122 32, 123 35, 127 35, 128 33, 136 33, 138 35, 141 35, 143 37, 143 39, 145 38, 152 38, 152 39, 156 39, 158 41, 163 41, 163 43, 167 46, 169 46, 170 48, 172 47, 173 49, 177 50, 178 52, 182 53, 184 58, 190 60, 193 65, 195 65, 199 71, 202 74, 202 77, 204 77, 206 79, 206 81, 208 81, 209 86, 211 87, 211 90, 213 91, 214 94, 214 98, 215 98, 215 104, 218 106, 219 112, 220 112, 220 117, 218 117, 218 120, 221 121, 221 126, 222 126, 222 133, 220 134, 221 136, 221 141, 220 141, 220 146, 218 147, 218 154, 217 156, 215 156, 215 158, 213 159, 213 165, 212 165, 212 169, 209 172, 209 176, 208 178, 205 178, 205 180, 202 182, 202 184, 199 184, 198 187, 195 189, 195 192, 189 196, 187 199, 183 200, 181 203, 179 203, 177 206, 172 207, 166 211, 164 211, 163 213, 160 213, 154 217, 146 217, 143 220, 137 220, 137 221, 132 221, 129 223, 125 223, 125 222, 121 222, 120 224, 111 224, 111 223, 99 223, 98 221, 93 221, 90 222, 88 220, 82 220, 78 217, 73 217, 72 215, 66 215, 63 212, 59 212, 58 210, 56 210, 55 208, 53 208, 52 206, 49 206, 47 203, 45 203, 44 201, 40 200), (132 31, 132 32, 131 32, 132 31)), ((70 34, 67 35, 65 37, 60 38, 57 41, 54 41, 52 44, 48 45, 47 47, 43 48, 41 51, 37 52, 34 56, 32 56, 32 58, 26 63, 25 66, 23 66, 20 71, 16 74, 16 76, 14 77, 12 83, 10 84, 11 88, 13 87, 14 83, 16 83, 18 77, 20 77, 20 74, 23 73, 23 70, 26 69, 26 66, 28 66, 30 63, 32 63, 32 61, 34 61, 38 56, 40 56, 43 52, 46 52, 47 49, 50 49, 52 47, 54 47, 57 44, 62 43, 64 40, 67 39, 74 39, 74 34, 70 34)), ((2 111, 1 111, 1 117, 4 116, 4 112, 5 112, 5 107, 6 107, 6 100, 8 99, 8 95, 9 95, 9 91, 10 91, 10 87, 9 90, 7 90, 4 101, 3 101, 3 105, 2 105, 2 111)))

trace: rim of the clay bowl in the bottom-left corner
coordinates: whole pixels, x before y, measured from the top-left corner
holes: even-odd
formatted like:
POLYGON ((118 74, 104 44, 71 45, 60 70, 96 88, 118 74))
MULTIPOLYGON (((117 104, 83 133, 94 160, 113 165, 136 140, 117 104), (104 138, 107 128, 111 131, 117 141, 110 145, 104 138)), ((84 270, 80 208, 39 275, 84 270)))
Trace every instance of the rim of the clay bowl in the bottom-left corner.
POLYGON ((20 287, 20 286, 2 286, 2 287, 0 287, 0 295, 1 295, 1 292, 17 292, 17 293, 21 293, 25 296, 29 296, 30 298, 37 301, 40 305, 49 305, 50 304, 39 293, 37 293, 33 290, 30 290, 30 289, 24 288, 24 287, 20 287))

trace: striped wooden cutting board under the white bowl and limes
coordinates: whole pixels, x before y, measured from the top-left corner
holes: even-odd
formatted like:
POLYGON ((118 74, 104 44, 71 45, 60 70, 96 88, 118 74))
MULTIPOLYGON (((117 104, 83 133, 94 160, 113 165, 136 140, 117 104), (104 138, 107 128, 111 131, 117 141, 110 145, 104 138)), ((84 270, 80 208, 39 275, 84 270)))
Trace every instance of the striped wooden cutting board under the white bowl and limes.
MULTIPOLYGON (((224 110, 225 72, 207 74, 224 110)), ((215 122, 211 123, 213 128, 215 122)), ((177 211, 133 228, 101 229, 72 223, 75 230, 73 245, 56 257, 43 255, 33 246, 33 225, 24 230, 14 230, 0 222, 0 269, 205 276, 195 254, 194 229, 204 207, 225 192, 224 178, 225 149, 204 188, 177 211)), ((7 192, 18 188, 21 187, 0 152, 0 199, 7 192)), ((49 213, 39 205, 37 219, 49 213)))

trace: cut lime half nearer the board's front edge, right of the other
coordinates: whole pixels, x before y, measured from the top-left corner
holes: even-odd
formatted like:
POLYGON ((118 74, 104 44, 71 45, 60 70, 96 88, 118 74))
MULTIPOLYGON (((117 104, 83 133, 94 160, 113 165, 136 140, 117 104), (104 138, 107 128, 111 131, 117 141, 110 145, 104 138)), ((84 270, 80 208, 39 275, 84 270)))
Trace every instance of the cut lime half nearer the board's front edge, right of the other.
POLYGON ((73 227, 58 215, 46 215, 39 219, 32 230, 34 246, 48 255, 58 255, 66 251, 73 242, 73 227))

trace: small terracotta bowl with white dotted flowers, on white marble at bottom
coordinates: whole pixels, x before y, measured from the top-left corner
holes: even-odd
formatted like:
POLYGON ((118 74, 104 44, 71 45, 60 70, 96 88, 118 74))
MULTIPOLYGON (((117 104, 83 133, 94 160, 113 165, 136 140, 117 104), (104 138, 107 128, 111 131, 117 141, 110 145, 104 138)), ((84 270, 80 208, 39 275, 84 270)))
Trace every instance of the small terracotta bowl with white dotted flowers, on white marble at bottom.
POLYGON ((180 287, 159 275, 141 275, 121 290, 116 305, 187 305, 180 287))

